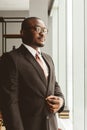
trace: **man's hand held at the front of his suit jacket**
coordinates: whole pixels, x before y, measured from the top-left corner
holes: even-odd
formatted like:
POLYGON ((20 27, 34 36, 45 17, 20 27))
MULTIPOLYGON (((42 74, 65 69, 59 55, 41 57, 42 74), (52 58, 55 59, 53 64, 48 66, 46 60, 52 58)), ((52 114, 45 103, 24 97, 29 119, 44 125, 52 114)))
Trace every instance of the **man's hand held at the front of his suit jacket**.
POLYGON ((63 105, 63 99, 58 96, 50 95, 46 98, 48 109, 50 112, 57 112, 63 105))

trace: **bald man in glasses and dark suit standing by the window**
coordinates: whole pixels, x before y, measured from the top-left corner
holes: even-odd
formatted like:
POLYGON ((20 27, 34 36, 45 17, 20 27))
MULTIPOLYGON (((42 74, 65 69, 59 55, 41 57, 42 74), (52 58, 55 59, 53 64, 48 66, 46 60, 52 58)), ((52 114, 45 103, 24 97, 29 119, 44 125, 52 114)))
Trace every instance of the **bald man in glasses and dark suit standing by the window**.
POLYGON ((26 18, 23 44, 1 57, 1 110, 7 130, 58 130, 56 112, 63 110, 64 96, 51 57, 40 51, 46 35, 40 18, 26 18))

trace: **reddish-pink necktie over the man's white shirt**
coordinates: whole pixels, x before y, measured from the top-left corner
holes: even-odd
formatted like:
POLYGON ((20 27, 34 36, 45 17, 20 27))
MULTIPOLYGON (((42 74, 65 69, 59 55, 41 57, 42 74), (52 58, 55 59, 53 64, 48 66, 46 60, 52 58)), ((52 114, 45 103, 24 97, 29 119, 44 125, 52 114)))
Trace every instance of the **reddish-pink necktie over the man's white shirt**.
POLYGON ((41 66, 41 68, 43 69, 44 71, 44 74, 45 74, 45 77, 47 78, 48 76, 48 72, 47 72, 47 68, 46 66, 44 65, 42 59, 40 58, 39 56, 40 54, 36 53, 36 61, 39 63, 39 65, 41 66))

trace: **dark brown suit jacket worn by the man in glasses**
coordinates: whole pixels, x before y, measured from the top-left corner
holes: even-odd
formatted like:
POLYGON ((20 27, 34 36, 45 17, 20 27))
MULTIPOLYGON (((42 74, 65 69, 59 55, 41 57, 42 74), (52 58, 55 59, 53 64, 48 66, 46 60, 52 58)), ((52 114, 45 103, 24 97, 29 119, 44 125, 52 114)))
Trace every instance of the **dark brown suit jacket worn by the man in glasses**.
MULTIPOLYGON (((1 57, 0 98, 7 130, 57 130, 55 114, 45 98, 63 94, 56 82, 54 64, 42 53, 49 69, 48 81, 32 54, 21 45, 1 57)), ((62 111, 64 105, 59 110, 62 111)))

